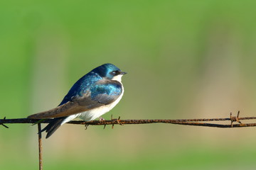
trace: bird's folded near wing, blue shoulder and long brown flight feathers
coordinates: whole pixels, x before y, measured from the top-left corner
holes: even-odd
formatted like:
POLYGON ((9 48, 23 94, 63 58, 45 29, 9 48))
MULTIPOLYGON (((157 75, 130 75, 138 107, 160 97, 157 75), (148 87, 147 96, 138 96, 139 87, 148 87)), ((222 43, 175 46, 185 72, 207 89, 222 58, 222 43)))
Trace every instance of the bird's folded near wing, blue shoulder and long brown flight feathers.
POLYGON ((108 105, 122 94, 122 84, 118 81, 102 79, 92 84, 84 94, 77 94, 57 108, 30 115, 28 118, 60 118, 108 105))

